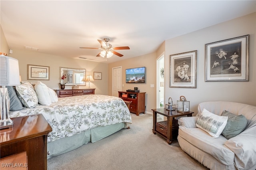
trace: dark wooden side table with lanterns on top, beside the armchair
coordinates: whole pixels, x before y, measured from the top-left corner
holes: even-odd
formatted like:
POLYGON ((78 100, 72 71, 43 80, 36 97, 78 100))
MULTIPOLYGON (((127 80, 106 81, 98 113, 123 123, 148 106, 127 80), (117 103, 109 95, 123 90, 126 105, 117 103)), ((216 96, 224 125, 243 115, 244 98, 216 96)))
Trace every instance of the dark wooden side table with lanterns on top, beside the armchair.
POLYGON ((180 117, 180 116, 191 117, 192 114, 194 113, 194 112, 178 113, 176 110, 167 111, 165 108, 152 109, 152 111, 153 111, 152 131, 154 134, 157 133, 163 138, 165 138, 168 144, 171 144, 172 140, 175 140, 178 136, 178 121, 175 119, 175 117, 180 117), (156 117, 157 113, 167 117, 167 121, 157 122, 157 117, 156 117))

